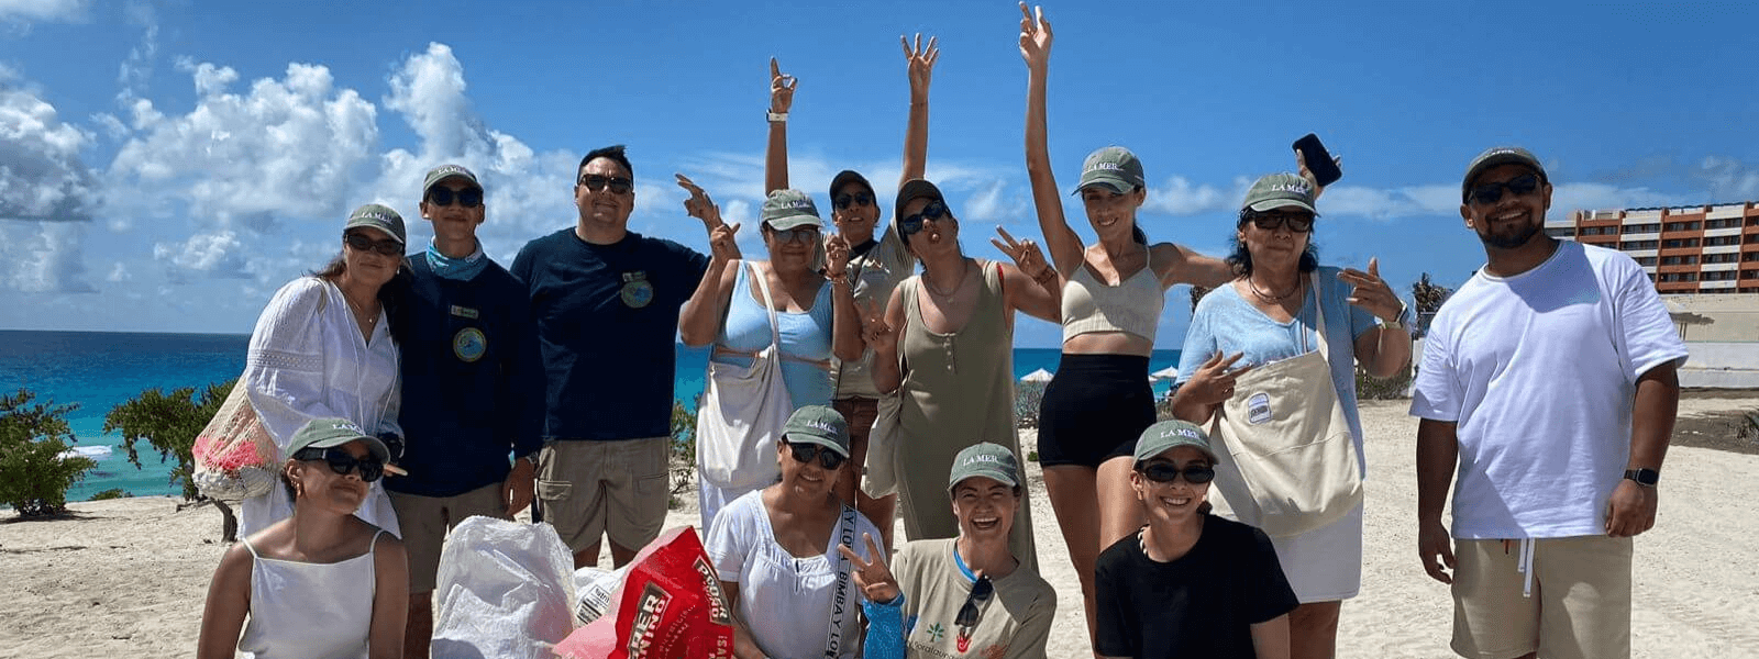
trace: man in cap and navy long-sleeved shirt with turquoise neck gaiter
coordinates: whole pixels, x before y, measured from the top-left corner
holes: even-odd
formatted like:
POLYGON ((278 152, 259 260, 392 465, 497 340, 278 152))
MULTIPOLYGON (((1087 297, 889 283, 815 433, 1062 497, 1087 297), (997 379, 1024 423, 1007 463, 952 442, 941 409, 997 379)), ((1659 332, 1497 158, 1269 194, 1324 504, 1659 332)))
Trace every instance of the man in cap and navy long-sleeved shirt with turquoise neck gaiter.
POLYGON ((398 313, 408 476, 385 482, 410 557, 405 657, 427 657, 447 532, 471 515, 512 518, 531 504, 544 380, 526 288, 482 253, 482 185, 440 165, 422 185, 434 237, 410 257, 398 313), (508 462, 508 457, 514 457, 508 462))

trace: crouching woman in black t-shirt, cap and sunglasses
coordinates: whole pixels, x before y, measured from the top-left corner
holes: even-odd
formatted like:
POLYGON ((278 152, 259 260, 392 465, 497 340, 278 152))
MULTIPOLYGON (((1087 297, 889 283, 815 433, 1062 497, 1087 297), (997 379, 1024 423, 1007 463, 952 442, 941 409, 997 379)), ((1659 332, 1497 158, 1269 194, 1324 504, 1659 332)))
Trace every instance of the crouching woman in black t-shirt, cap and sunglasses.
POLYGON ((1270 536, 1210 513, 1215 453, 1193 424, 1150 425, 1129 476, 1149 524, 1099 554, 1105 657, 1288 657, 1289 589, 1270 536))

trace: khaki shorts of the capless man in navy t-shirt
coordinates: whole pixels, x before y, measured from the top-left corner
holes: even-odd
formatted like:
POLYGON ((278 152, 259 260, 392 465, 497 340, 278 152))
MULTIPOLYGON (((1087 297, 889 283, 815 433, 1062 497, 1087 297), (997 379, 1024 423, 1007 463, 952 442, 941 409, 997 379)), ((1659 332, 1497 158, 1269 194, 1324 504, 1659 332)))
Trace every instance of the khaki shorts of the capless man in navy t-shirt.
POLYGON ((538 452, 538 503, 575 554, 609 534, 639 550, 660 538, 672 438, 551 441, 538 452))

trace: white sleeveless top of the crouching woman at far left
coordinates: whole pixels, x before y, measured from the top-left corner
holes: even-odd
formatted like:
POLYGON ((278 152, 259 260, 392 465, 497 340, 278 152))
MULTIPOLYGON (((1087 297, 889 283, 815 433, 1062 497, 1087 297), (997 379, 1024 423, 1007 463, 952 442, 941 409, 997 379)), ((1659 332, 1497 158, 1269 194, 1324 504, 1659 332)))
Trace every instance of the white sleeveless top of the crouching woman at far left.
POLYGON ((373 627, 373 548, 338 562, 264 559, 250 550, 250 622, 237 650, 246 659, 366 659, 373 627))

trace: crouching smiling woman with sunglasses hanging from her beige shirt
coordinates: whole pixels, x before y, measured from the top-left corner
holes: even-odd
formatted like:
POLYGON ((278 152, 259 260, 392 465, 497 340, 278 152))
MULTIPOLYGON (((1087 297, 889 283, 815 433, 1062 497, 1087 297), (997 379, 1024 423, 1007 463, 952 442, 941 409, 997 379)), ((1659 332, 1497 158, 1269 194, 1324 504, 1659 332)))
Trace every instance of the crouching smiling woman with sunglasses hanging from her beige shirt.
POLYGON ((904 545, 895 573, 871 536, 871 562, 837 548, 865 596, 865 657, 1045 657, 1057 590, 1008 550, 1025 494, 1020 462, 1001 445, 969 446, 953 457, 946 489, 959 538, 904 545))

